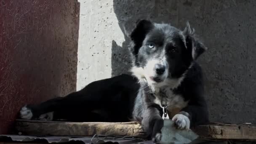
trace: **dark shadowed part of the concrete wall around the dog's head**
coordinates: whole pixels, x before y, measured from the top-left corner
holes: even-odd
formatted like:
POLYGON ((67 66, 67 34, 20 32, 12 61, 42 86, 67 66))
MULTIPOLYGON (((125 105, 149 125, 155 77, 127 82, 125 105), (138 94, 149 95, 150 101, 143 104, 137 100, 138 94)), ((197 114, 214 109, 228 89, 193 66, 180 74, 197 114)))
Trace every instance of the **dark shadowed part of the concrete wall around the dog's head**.
POLYGON ((198 59, 205 73, 210 120, 256 123, 255 0, 113 0, 125 35, 112 43, 112 76, 131 67, 128 34, 138 19, 165 22, 183 29, 186 21, 203 38, 208 51, 198 59))

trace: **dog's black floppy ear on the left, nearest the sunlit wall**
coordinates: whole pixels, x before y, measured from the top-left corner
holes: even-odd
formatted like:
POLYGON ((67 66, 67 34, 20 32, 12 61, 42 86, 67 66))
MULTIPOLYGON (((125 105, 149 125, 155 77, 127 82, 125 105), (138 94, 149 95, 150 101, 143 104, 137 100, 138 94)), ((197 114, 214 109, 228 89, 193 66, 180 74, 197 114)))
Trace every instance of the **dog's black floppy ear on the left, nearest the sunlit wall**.
POLYGON ((153 23, 148 20, 137 21, 135 29, 131 32, 131 40, 133 45, 130 48, 131 53, 136 56, 139 52, 139 48, 142 46, 143 40, 147 33, 154 27, 153 23))

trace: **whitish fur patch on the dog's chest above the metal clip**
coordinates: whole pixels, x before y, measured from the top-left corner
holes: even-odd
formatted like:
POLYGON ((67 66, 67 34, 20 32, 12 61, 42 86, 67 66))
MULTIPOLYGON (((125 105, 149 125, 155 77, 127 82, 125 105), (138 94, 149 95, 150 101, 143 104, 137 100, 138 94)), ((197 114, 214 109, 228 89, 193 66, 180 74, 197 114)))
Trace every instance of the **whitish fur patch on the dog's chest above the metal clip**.
POLYGON ((163 107, 163 105, 167 106, 168 115, 170 117, 176 115, 188 104, 188 101, 184 101, 181 95, 174 94, 170 88, 166 88, 160 93, 155 93, 153 102, 160 105, 160 107, 163 107))

